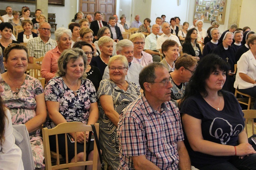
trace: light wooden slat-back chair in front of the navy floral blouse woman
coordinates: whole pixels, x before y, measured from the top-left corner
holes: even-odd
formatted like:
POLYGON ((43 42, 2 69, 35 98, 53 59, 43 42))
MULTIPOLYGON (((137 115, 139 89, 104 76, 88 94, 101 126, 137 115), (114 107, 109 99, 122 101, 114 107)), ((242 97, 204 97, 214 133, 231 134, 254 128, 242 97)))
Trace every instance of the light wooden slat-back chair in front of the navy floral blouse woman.
MULTIPOLYGON (((99 136, 99 124, 95 124, 95 128, 97 131, 97 135, 99 136)), ((77 149, 76 143, 77 139, 75 137, 75 162, 69 163, 68 162, 68 150, 67 150, 67 133, 75 133, 76 132, 90 132, 93 131, 90 125, 85 125, 82 122, 67 122, 67 123, 60 123, 56 127, 52 129, 47 129, 46 127, 42 129, 43 131, 43 144, 44 144, 44 157, 45 157, 45 169, 52 170, 52 169, 63 169, 69 167, 76 167, 76 166, 85 166, 85 165, 93 165, 93 169, 97 169, 97 161, 98 161, 98 150, 96 141, 94 141, 94 157, 93 161, 86 161, 86 142, 84 143, 84 158, 83 161, 77 162, 77 149), (58 145, 58 134, 65 134, 65 144, 66 144, 66 163, 60 164, 59 161, 59 145, 58 145), (57 165, 52 166, 51 163, 51 151, 50 151, 50 144, 49 144, 49 136, 55 135, 56 136, 56 150, 57 150, 57 165)), ((63 141, 64 142, 64 141, 63 141)))

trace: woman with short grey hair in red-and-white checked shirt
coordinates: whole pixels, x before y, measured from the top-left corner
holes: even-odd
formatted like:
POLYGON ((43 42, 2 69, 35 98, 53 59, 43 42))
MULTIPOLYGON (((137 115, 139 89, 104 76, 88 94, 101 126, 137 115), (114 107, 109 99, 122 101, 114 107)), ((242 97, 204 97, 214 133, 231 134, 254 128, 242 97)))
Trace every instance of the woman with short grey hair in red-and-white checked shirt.
POLYGON ((55 31, 54 35, 58 45, 54 49, 46 52, 42 61, 41 73, 46 82, 55 76, 55 73, 58 70, 57 60, 61 53, 65 49, 71 48, 72 33, 70 30, 61 27, 55 31))

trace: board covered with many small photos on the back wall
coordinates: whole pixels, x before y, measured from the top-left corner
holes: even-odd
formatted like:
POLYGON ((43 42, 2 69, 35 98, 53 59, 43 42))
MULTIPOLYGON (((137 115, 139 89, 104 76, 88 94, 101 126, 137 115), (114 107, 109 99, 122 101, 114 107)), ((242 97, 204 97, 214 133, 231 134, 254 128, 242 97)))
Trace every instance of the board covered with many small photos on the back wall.
POLYGON ((226 0, 196 0, 193 17, 207 23, 216 20, 224 24, 225 13, 226 0))

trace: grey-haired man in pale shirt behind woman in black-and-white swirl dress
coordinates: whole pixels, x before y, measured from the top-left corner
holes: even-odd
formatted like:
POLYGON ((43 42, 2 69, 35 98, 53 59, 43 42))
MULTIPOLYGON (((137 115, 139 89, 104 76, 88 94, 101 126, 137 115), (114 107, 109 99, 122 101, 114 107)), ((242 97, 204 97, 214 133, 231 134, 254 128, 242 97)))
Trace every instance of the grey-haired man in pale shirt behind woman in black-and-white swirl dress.
MULTIPOLYGON (((116 54, 123 55, 127 58, 129 68, 127 75, 125 76, 126 81, 132 81, 137 84, 138 88, 141 89, 139 84, 139 73, 143 66, 137 63, 132 63, 133 60, 133 43, 130 40, 121 40, 116 44, 116 54)), ((106 66, 102 79, 109 78, 109 68, 106 66)))

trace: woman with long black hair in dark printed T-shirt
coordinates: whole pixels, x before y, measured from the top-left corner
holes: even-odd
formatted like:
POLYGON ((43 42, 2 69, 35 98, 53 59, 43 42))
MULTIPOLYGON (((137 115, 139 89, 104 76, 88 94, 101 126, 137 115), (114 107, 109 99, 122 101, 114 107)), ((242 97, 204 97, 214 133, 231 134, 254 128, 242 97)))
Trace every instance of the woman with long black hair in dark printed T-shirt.
POLYGON ((184 143, 191 165, 200 170, 256 167, 241 107, 232 93, 222 90, 228 69, 217 55, 203 57, 182 99, 184 143))

